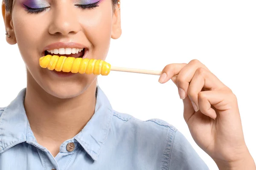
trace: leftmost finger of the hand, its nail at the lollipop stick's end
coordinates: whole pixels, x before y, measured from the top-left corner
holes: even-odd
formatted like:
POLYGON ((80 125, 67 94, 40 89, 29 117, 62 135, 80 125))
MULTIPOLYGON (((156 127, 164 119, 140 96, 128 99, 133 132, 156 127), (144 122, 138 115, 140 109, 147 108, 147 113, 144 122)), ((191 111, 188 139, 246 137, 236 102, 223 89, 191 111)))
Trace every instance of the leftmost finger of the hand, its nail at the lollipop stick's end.
POLYGON ((163 68, 161 76, 159 78, 160 83, 168 82, 174 75, 179 74, 180 70, 186 65, 186 63, 182 64, 169 64, 163 68))

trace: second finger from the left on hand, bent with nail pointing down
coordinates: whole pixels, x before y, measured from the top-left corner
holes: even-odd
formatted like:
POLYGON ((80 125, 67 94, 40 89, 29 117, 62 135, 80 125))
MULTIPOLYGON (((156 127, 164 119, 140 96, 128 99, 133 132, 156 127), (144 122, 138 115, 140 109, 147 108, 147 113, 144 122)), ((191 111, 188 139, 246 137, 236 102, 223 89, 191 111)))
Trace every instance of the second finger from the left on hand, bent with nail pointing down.
POLYGON ((189 88, 189 82, 192 80, 195 71, 198 68, 208 68, 197 59, 192 60, 189 64, 185 65, 177 76, 177 86, 179 89, 180 99, 185 99, 189 88))

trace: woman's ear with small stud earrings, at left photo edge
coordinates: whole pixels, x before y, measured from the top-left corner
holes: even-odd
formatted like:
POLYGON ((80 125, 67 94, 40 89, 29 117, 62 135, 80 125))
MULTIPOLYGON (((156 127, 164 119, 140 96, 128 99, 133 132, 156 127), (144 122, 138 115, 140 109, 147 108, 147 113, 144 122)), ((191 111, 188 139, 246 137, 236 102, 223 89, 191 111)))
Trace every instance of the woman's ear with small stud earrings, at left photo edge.
POLYGON ((3 15, 3 22, 4 22, 4 25, 6 27, 6 31, 8 32, 8 34, 10 35, 10 37, 8 37, 6 35, 6 41, 11 44, 11 45, 14 45, 17 43, 16 41, 16 37, 15 37, 15 32, 14 32, 14 29, 13 29, 13 23, 12 23, 12 15, 11 15, 11 12, 10 11, 6 11, 6 8, 5 8, 5 3, 2 2, 2 15, 3 15))

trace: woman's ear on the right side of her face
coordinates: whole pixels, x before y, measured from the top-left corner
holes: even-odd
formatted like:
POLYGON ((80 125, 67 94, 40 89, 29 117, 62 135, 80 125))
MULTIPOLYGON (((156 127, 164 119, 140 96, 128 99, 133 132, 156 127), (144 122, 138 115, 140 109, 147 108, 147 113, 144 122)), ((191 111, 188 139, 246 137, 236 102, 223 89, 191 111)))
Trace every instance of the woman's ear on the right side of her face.
POLYGON ((122 34, 119 4, 114 8, 111 38, 118 39, 122 34))

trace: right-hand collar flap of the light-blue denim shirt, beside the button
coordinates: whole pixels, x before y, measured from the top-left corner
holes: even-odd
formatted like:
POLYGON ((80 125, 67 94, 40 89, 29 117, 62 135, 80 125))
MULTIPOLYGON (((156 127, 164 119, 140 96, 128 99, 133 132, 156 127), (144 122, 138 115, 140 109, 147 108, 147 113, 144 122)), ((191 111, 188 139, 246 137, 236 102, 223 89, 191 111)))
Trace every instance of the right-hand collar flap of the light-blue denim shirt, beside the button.
POLYGON ((74 137, 93 160, 98 159, 102 146, 107 140, 112 117, 111 104, 103 91, 97 87, 95 113, 81 132, 74 137))

